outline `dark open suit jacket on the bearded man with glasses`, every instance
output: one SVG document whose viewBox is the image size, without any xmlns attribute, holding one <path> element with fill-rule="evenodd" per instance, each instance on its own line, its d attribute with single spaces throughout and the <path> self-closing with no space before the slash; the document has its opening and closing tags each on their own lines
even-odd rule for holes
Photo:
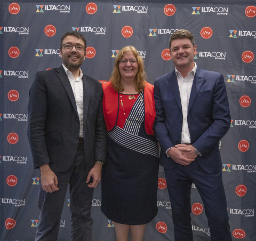
<svg viewBox="0 0 256 241">
<path fill-rule="evenodd" d="M 107 132 L 101 84 L 83 75 L 83 88 L 83 138 L 88 173 L 95 160 L 105 162 Z M 79 128 L 74 93 L 63 67 L 38 71 L 29 91 L 28 105 L 28 140 L 34 168 L 49 163 L 52 171 L 66 172 L 75 159 Z"/>
</svg>

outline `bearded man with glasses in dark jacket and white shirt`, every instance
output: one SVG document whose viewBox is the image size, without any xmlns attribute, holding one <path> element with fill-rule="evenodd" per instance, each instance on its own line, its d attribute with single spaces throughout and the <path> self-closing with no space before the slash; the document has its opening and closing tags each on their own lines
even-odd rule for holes
<svg viewBox="0 0 256 241">
<path fill-rule="evenodd" d="M 86 41 L 63 34 L 60 68 L 39 71 L 29 92 L 28 139 L 34 168 L 40 168 L 35 240 L 57 240 L 70 184 L 71 240 L 91 240 L 93 188 L 106 156 L 102 87 L 83 75 Z"/>
</svg>

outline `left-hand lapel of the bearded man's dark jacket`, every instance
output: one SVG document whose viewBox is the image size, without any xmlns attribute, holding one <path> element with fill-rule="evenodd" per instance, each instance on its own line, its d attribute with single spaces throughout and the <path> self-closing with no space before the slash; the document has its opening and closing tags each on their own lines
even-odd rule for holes
<svg viewBox="0 0 256 241">
<path fill-rule="evenodd" d="M 74 93 L 73 93 L 72 87 L 70 85 L 68 76 L 65 73 L 65 70 L 62 66 L 60 68 L 58 68 L 56 70 L 56 72 L 57 72 L 57 76 L 60 79 L 62 85 L 64 86 L 64 88 L 65 88 L 65 90 L 68 94 L 68 98 L 69 98 L 69 100 L 70 100 L 70 102 L 71 102 L 71 104 L 72 104 L 73 108 L 75 109 L 76 114 L 78 116 L 77 107 L 76 107 L 76 100 L 75 100 Z"/>
</svg>

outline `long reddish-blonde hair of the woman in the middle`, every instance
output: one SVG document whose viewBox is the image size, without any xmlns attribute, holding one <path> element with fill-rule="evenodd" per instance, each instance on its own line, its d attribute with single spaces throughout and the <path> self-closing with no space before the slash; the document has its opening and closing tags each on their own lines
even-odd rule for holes
<svg viewBox="0 0 256 241">
<path fill-rule="evenodd" d="M 121 83 L 121 75 L 120 75 L 120 71 L 119 71 L 119 60 L 123 59 L 124 54 L 126 52 L 132 52 L 134 54 L 135 58 L 138 60 L 138 72 L 137 72 L 137 75 L 135 76 L 135 82 L 136 82 L 135 90 L 137 92 L 141 92 L 145 88 L 147 76 L 145 73 L 144 61 L 140 57 L 140 54 L 137 51 L 137 49 L 135 49 L 135 47 L 132 45 L 123 47 L 123 49 L 118 52 L 118 54 L 116 56 L 115 63 L 114 63 L 114 69 L 113 69 L 113 72 L 110 77 L 111 85 L 112 85 L 113 89 L 117 92 L 124 91 L 123 85 Z"/>
</svg>

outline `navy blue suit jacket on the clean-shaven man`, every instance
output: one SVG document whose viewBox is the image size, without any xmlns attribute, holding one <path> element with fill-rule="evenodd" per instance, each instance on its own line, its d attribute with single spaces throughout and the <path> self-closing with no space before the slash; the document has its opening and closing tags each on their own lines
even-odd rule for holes
<svg viewBox="0 0 256 241">
<path fill-rule="evenodd" d="M 156 119 L 154 130 L 161 146 L 160 164 L 167 169 L 177 165 L 166 150 L 181 143 L 182 108 L 175 70 L 155 80 Z M 219 140 L 230 127 L 226 86 L 220 73 L 197 67 L 189 105 L 188 127 L 191 144 L 201 152 L 197 163 L 204 171 L 221 170 Z"/>
</svg>

